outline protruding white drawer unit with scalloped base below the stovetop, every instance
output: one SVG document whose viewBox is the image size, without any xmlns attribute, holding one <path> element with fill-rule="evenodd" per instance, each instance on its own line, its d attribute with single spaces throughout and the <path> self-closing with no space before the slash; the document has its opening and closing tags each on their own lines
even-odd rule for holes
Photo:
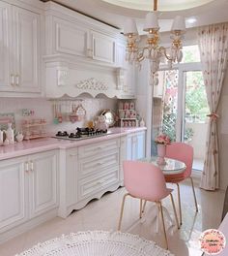
<svg viewBox="0 0 228 256">
<path fill-rule="evenodd" d="M 120 186 L 120 139 L 82 145 L 60 152 L 60 208 L 66 218 L 73 209 Z"/>
</svg>

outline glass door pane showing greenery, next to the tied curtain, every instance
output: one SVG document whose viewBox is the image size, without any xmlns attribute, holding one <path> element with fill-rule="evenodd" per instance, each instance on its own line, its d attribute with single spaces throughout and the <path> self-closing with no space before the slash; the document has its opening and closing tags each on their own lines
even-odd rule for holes
<svg viewBox="0 0 228 256">
<path fill-rule="evenodd" d="M 209 106 L 201 71 L 185 71 L 182 141 L 194 148 L 193 169 L 203 170 Z"/>
</svg>

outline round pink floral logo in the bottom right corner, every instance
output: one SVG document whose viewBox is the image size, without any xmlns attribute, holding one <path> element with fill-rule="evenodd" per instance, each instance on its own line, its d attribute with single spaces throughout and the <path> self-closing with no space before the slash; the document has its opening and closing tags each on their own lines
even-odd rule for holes
<svg viewBox="0 0 228 256">
<path fill-rule="evenodd" d="M 219 230 L 209 229 L 200 236 L 200 245 L 203 252 L 216 255 L 224 249 L 226 238 Z"/>
</svg>

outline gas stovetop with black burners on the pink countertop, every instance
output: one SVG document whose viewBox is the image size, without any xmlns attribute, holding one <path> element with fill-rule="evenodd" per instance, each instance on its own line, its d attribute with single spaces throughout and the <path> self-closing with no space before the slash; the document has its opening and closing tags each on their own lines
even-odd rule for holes
<svg viewBox="0 0 228 256">
<path fill-rule="evenodd" d="M 83 139 L 89 139 L 89 138 L 96 138 L 100 136 L 104 136 L 110 134 L 109 131 L 99 131 L 95 130 L 94 128 L 76 128 L 76 132 L 68 133 L 67 131 L 58 131 L 58 133 L 53 136 L 52 138 L 56 139 L 63 139 L 63 140 L 70 140 L 70 141 L 76 141 L 76 140 L 83 140 Z"/>
</svg>

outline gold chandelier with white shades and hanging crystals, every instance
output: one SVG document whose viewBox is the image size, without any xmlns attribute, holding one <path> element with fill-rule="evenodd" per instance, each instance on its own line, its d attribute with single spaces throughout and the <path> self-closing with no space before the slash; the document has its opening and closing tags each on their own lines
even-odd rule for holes
<svg viewBox="0 0 228 256">
<path fill-rule="evenodd" d="M 158 80 L 155 76 L 162 57 L 167 59 L 169 69 L 175 62 L 181 62 L 183 58 L 182 40 L 185 34 L 185 18 L 184 16 L 176 16 L 171 28 L 172 44 L 170 48 L 159 46 L 159 26 L 158 26 L 157 0 L 154 0 L 154 11 L 146 16 L 143 30 L 148 32 L 147 43 L 144 48 L 138 46 L 138 31 L 135 20 L 128 18 L 124 35 L 127 36 L 126 60 L 130 64 L 141 67 L 140 62 L 148 59 L 150 62 L 151 83 L 157 84 Z"/>
</svg>

